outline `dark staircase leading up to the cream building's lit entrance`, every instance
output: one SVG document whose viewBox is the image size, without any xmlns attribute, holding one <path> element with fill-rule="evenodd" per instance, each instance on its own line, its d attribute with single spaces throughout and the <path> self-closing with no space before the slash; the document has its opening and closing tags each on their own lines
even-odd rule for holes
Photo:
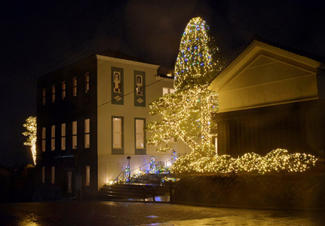
<svg viewBox="0 0 325 226">
<path fill-rule="evenodd" d="M 98 198 L 105 201 L 169 201 L 171 188 L 161 183 L 168 174 L 144 174 L 125 184 L 103 186 Z"/>
</svg>

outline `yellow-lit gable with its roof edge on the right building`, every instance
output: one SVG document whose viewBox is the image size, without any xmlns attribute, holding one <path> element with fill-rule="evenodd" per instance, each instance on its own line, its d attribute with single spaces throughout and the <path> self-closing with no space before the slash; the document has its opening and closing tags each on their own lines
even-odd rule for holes
<svg viewBox="0 0 325 226">
<path fill-rule="evenodd" d="M 253 40 L 209 85 L 219 112 L 325 97 L 324 64 Z"/>
</svg>

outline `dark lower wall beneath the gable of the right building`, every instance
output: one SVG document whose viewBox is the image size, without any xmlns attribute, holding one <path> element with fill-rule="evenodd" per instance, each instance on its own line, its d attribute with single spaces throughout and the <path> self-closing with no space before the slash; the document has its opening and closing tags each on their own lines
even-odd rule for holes
<svg viewBox="0 0 325 226">
<path fill-rule="evenodd" d="M 325 101 L 309 100 L 214 114 L 218 153 L 266 155 L 276 148 L 322 156 Z"/>
</svg>

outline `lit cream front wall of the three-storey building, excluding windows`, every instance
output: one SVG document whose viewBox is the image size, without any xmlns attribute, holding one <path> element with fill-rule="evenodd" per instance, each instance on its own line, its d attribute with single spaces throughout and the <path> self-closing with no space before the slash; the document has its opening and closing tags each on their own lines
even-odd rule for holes
<svg viewBox="0 0 325 226">
<path fill-rule="evenodd" d="M 112 67 L 123 69 L 123 104 L 114 104 L 112 101 Z M 162 95 L 162 88 L 173 88 L 171 78 L 157 78 L 157 65 L 139 63 L 110 57 L 98 57 L 98 187 L 115 179 L 128 165 L 127 157 L 130 156 L 130 169 L 145 165 L 154 156 L 156 161 L 168 161 L 171 153 L 158 153 L 153 146 L 145 145 L 145 150 L 135 150 L 135 118 L 145 119 L 149 123 L 158 116 L 149 115 L 148 105 Z M 135 96 L 135 71 L 145 74 L 145 105 L 138 106 Z M 159 80 L 157 80 L 159 79 Z M 123 117 L 123 150 L 117 153 L 112 151 L 112 117 Z M 149 134 L 145 132 L 146 138 Z M 178 153 L 185 151 L 183 143 L 174 143 Z M 145 167 L 142 167 L 142 170 Z"/>
</svg>

